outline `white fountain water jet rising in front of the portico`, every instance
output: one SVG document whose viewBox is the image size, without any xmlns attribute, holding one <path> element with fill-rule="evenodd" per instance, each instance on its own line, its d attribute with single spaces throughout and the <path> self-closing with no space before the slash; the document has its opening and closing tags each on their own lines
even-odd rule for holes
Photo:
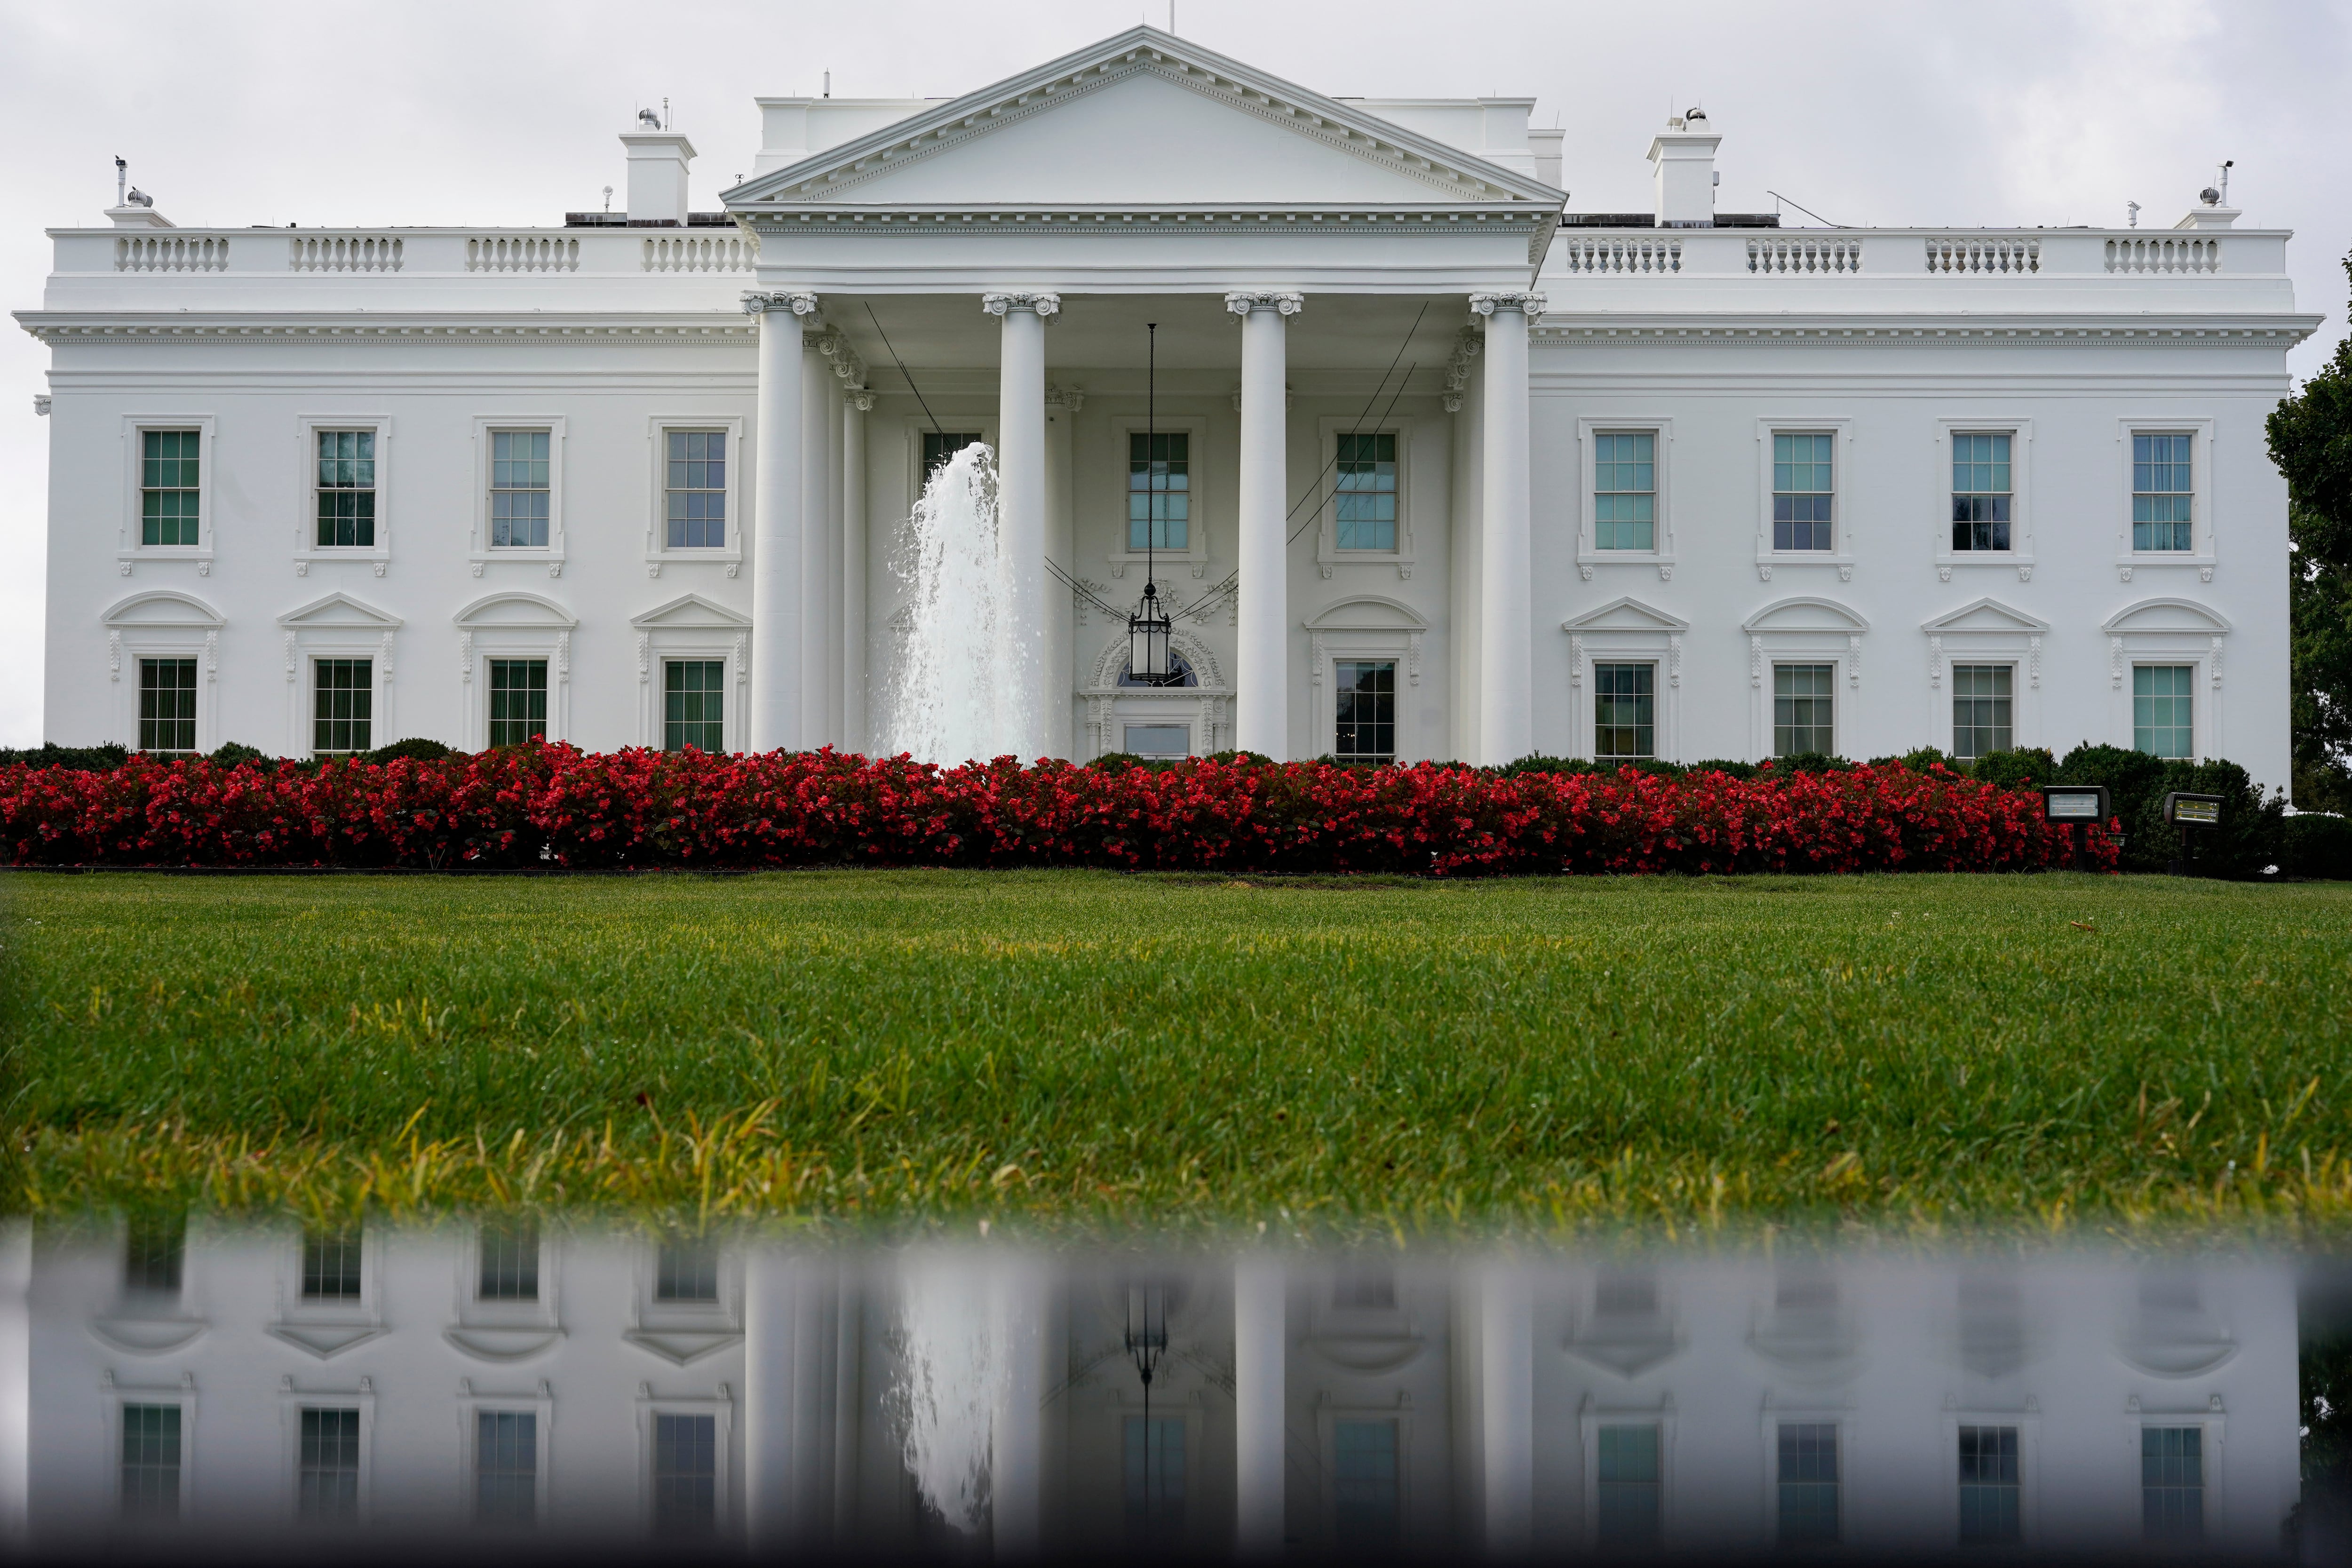
<svg viewBox="0 0 2352 1568">
<path fill-rule="evenodd" d="M 884 752 L 915 762 L 1037 755 L 1035 696 L 1016 644 L 1014 562 L 997 529 L 997 458 L 974 442 L 931 470 L 894 564 L 908 585 L 908 632 L 887 698 Z"/>
</svg>

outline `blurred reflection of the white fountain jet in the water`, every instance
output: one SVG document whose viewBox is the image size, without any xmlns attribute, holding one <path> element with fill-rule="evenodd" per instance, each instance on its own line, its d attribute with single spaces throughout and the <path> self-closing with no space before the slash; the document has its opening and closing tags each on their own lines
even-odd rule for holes
<svg viewBox="0 0 2352 1568">
<path fill-rule="evenodd" d="M 903 1432 L 906 1469 L 941 1519 L 962 1535 L 978 1535 L 990 1514 L 1004 1356 L 969 1262 L 908 1262 L 898 1284 L 898 1349 L 889 1406 Z"/>
</svg>

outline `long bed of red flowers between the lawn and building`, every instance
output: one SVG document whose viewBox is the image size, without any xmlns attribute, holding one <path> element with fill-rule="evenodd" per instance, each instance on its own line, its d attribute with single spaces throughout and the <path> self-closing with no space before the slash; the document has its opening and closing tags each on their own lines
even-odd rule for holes
<svg viewBox="0 0 2352 1568">
<path fill-rule="evenodd" d="M 2072 865 L 2042 797 L 1943 766 L 1494 771 L 1249 755 L 941 769 L 524 745 L 390 762 L 0 766 L 14 865 L 1105 865 L 1216 872 L 1997 872 Z M 2089 863 L 2112 870 L 2107 825 Z"/>
</svg>

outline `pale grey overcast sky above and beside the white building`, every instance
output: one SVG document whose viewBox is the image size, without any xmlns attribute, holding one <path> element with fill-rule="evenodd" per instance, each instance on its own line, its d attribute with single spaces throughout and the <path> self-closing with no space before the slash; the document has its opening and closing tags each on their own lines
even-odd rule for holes
<svg viewBox="0 0 2352 1568">
<path fill-rule="evenodd" d="M 760 146 L 755 94 L 946 96 L 1169 0 L 0 0 L 0 301 L 40 303 L 45 226 L 101 223 L 113 158 L 174 223 L 560 223 L 623 186 L 670 101 L 694 205 Z M 2352 0 L 1176 0 L 1176 31 L 1327 94 L 1534 94 L 1569 207 L 1649 207 L 1670 108 L 1724 134 L 1724 212 L 1766 188 L 1837 223 L 2169 226 L 2234 158 L 2246 226 L 2296 230 L 2310 374 L 2343 334 Z M 42 738 L 47 353 L 0 329 L 0 745 Z"/>
</svg>

